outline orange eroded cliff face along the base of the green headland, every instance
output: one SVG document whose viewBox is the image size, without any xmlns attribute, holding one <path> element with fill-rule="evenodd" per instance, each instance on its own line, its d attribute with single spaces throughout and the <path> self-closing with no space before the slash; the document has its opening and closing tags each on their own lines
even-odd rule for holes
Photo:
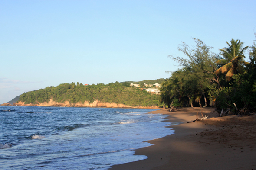
<svg viewBox="0 0 256 170">
<path fill-rule="evenodd" d="M 13 106 L 56 106 L 56 107 L 106 107 L 106 108 L 139 108 L 139 109 L 160 109 L 158 106 L 149 106 L 149 107 L 132 107 L 127 106 L 123 104 L 116 104 L 116 103 L 103 103 L 98 100 L 95 100 L 93 103 L 89 103 L 89 101 L 85 101 L 84 103 L 78 102 L 78 103 L 69 103 L 68 101 L 65 101 L 64 103 L 59 103 L 53 101 L 53 99 L 50 99 L 50 101 L 44 102 L 44 103 L 38 103 L 38 104 L 25 104 L 24 102 L 16 102 L 13 103 Z"/>
</svg>

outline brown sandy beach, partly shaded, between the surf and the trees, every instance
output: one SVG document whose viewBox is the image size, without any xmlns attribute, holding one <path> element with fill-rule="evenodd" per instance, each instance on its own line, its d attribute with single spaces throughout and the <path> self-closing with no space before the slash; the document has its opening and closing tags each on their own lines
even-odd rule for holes
<svg viewBox="0 0 256 170">
<path fill-rule="evenodd" d="M 197 112 L 209 116 L 196 119 Z M 175 134 L 146 141 L 152 145 L 135 150 L 145 160 L 115 165 L 110 170 L 256 170 L 256 116 L 218 117 L 214 108 L 168 109 L 152 113 L 168 114 Z"/>
</svg>

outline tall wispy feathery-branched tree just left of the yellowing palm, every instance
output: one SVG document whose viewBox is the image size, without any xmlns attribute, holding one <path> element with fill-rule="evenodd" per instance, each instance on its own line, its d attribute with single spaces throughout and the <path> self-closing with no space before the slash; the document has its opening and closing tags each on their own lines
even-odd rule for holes
<svg viewBox="0 0 256 170">
<path fill-rule="evenodd" d="M 208 86 L 221 88 L 221 85 L 218 75 L 215 74 L 217 55 L 210 52 L 212 47 L 205 45 L 203 41 L 197 38 L 193 39 L 196 43 L 195 47 L 191 47 L 184 42 L 178 46 L 178 50 L 182 51 L 188 58 L 168 56 L 183 68 L 172 73 L 170 77 L 171 87 L 167 90 L 171 100 L 176 97 L 184 105 L 190 104 L 192 107 L 193 102 L 196 101 L 201 107 L 202 96 L 205 99 L 205 106 L 207 106 L 205 92 L 208 90 Z"/>
</svg>

